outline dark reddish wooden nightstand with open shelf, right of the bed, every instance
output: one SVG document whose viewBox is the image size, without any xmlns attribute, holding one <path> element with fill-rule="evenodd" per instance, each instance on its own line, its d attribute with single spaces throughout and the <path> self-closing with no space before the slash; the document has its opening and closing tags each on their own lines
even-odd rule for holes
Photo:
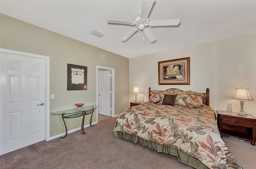
<svg viewBox="0 0 256 169">
<path fill-rule="evenodd" d="M 218 114 L 218 128 L 220 136 L 230 136 L 251 141 L 251 145 L 256 142 L 256 118 L 247 114 L 246 117 L 232 113 L 227 114 L 224 111 L 216 111 Z"/>
</svg>

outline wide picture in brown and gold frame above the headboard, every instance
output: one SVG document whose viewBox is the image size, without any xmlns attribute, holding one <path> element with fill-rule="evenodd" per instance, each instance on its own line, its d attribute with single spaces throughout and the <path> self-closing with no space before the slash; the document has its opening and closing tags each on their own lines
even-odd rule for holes
<svg viewBox="0 0 256 169">
<path fill-rule="evenodd" d="M 190 57 L 158 62 L 158 85 L 190 85 Z"/>
</svg>

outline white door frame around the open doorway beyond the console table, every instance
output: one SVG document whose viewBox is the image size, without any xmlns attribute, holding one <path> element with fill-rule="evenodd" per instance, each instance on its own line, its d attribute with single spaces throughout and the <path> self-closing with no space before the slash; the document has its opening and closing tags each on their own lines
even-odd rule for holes
<svg viewBox="0 0 256 169">
<path fill-rule="evenodd" d="M 111 117 L 115 117 L 115 69 L 110 68 L 110 67 L 103 67 L 103 66 L 98 66 L 96 65 L 96 104 L 98 105 L 98 87 L 99 87 L 99 82 L 98 82 L 98 73 L 99 69 L 106 69 L 106 70 L 111 70 Z M 98 123 L 98 112 L 96 113 L 96 122 Z"/>
</svg>

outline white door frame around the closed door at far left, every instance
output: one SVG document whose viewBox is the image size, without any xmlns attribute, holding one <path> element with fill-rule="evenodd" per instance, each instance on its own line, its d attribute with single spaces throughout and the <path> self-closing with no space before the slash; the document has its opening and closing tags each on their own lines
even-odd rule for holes
<svg viewBox="0 0 256 169">
<path fill-rule="evenodd" d="M 50 140 L 50 57 L 0 48 L 1 52 L 45 59 L 45 140 Z M 1 63 L 0 63 L 1 66 Z M 1 94 L 1 93 L 0 93 Z M 1 106 L 1 105 L 0 105 Z"/>
</svg>

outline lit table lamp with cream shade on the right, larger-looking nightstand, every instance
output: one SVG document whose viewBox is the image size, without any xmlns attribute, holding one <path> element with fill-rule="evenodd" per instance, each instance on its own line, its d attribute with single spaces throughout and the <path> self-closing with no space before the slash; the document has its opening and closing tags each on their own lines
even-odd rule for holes
<svg viewBox="0 0 256 169">
<path fill-rule="evenodd" d="M 246 116 L 246 113 L 244 113 L 244 100 L 253 100 L 252 97 L 250 96 L 249 89 L 248 88 L 236 88 L 236 91 L 234 95 L 232 96 L 234 99 L 241 99 L 240 105 L 241 105 L 241 110 L 238 112 L 237 115 L 240 116 Z"/>
</svg>

